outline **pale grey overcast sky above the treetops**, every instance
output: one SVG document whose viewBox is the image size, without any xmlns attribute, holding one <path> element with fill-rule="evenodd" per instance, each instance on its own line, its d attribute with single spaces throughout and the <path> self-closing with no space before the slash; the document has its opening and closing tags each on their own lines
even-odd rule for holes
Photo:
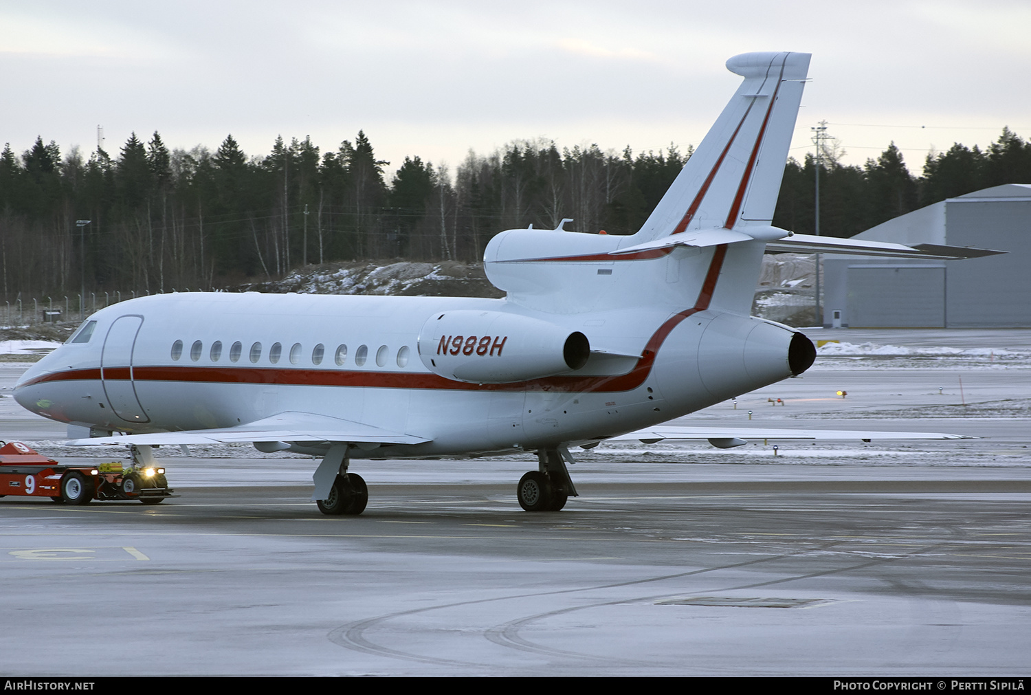
<svg viewBox="0 0 1031 695">
<path fill-rule="evenodd" d="M 452 169 L 469 148 L 697 144 L 749 51 L 813 54 L 792 154 L 821 120 L 845 161 L 891 140 L 1031 137 L 1027 0 L 336 2 L 0 0 L 0 142 L 36 135 L 112 156 L 135 131 L 248 155 L 276 135 L 325 152 L 359 129 L 398 166 Z"/>
</svg>

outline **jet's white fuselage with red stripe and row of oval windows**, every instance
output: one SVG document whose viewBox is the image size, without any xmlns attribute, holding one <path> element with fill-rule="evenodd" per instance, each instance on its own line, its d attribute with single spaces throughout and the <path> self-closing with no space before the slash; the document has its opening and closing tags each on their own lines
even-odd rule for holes
<svg viewBox="0 0 1031 695">
<path fill-rule="evenodd" d="M 428 320 L 454 310 L 536 319 L 583 332 L 612 354 L 596 352 L 580 369 L 512 383 L 445 378 L 421 358 L 455 351 L 488 363 L 521 337 L 495 331 L 450 334 L 443 345 L 436 336 L 420 340 Z M 791 374 L 789 330 L 688 312 L 638 306 L 561 316 L 474 298 L 156 295 L 91 317 L 90 339 L 37 363 L 15 397 L 39 415 L 95 432 L 232 427 L 292 411 L 430 439 L 365 454 L 378 458 L 596 441 Z M 755 352 L 757 332 L 773 359 L 750 367 L 747 338 Z"/>
</svg>

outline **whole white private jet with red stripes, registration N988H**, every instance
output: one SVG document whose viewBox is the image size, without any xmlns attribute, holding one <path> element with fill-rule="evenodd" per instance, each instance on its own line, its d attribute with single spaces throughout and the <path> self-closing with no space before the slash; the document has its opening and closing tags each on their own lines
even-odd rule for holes
<svg viewBox="0 0 1031 695">
<path fill-rule="evenodd" d="M 360 514 L 362 459 L 535 452 L 527 510 L 576 491 L 569 448 L 613 437 L 952 437 L 659 423 L 805 371 L 798 331 L 750 317 L 764 252 L 976 255 L 771 226 L 809 56 L 752 53 L 743 77 L 632 236 L 509 229 L 485 253 L 504 299 L 173 293 L 90 317 L 15 387 L 75 444 L 253 442 L 321 456 L 325 514 Z M 113 435 L 113 436 L 112 436 Z M 428 463 L 427 465 L 432 465 Z"/>
</svg>

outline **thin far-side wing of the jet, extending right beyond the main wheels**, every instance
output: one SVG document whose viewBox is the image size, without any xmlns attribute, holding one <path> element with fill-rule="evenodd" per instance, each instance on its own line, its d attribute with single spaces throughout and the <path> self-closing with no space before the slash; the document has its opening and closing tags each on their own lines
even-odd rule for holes
<svg viewBox="0 0 1031 695">
<path fill-rule="evenodd" d="M 730 449 L 749 443 L 749 439 L 976 439 L 962 434 L 942 432 L 884 432 L 870 430 L 792 430 L 752 427 L 650 427 L 629 432 L 605 441 L 637 439 L 644 443 L 655 443 L 664 439 L 707 439 L 720 449 Z"/>
</svg>

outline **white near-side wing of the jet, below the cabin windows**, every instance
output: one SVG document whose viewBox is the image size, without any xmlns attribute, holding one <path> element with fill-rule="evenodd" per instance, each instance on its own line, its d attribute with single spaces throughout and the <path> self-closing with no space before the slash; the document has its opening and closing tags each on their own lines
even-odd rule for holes
<svg viewBox="0 0 1031 695">
<path fill-rule="evenodd" d="M 109 437 L 90 437 L 68 441 L 73 446 L 91 444 L 211 444 L 255 441 L 338 441 L 380 444 L 418 444 L 429 441 L 403 432 L 392 432 L 381 427 L 332 418 L 313 412 L 280 412 L 235 427 L 217 427 L 204 430 L 156 432 L 153 434 L 126 434 Z"/>
</svg>

